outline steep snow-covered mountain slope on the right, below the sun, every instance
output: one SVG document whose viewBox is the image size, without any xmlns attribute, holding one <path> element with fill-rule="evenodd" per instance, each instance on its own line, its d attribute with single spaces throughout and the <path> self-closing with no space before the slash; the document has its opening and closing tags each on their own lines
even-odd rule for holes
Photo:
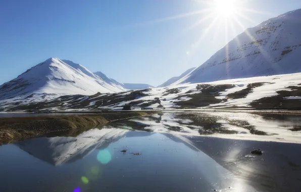
<svg viewBox="0 0 301 192">
<path fill-rule="evenodd" d="M 301 72 L 301 9 L 248 28 L 174 84 Z"/>
</svg>

